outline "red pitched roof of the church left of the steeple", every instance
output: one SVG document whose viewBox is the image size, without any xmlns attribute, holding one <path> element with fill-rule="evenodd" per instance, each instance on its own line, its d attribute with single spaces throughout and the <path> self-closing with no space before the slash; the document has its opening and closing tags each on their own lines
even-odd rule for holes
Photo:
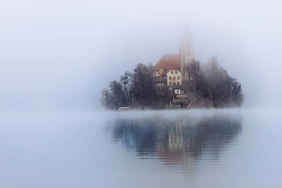
<svg viewBox="0 0 282 188">
<path fill-rule="evenodd" d="M 154 65 L 154 70 L 159 70 L 159 68 L 164 68 L 164 70 L 177 70 L 180 66 L 180 56 L 178 54 L 164 54 L 158 63 Z"/>
</svg>

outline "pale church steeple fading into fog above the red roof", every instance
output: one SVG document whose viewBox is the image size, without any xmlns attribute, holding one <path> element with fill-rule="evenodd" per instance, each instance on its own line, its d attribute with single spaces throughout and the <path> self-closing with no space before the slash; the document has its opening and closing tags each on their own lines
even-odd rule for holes
<svg viewBox="0 0 282 188">
<path fill-rule="evenodd" d="M 193 53 L 193 46 L 192 41 L 188 35 L 183 35 L 183 39 L 180 46 L 180 61 L 181 61 L 181 67 L 180 70 L 184 74 L 184 79 L 187 79 L 187 74 L 185 73 L 185 66 L 188 65 L 188 63 L 192 62 L 192 59 L 194 58 Z"/>
</svg>

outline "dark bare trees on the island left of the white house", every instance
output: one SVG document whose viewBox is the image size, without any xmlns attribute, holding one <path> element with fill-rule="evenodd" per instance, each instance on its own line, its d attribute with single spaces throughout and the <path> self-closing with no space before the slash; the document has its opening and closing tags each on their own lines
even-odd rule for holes
<svg viewBox="0 0 282 188">
<path fill-rule="evenodd" d="M 111 109 L 121 106 L 165 108 L 170 101 L 171 92 L 168 89 L 156 90 L 153 73 L 152 64 L 137 64 L 132 72 L 126 71 L 119 80 L 111 81 L 108 88 L 102 89 L 102 105 Z"/>
</svg>

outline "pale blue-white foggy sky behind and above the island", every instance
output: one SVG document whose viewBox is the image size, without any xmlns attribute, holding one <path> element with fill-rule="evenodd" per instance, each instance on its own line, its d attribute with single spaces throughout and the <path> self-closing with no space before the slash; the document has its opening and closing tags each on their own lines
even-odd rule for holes
<svg viewBox="0 0 282 188">
<path fill-rule="evenodd" d="M 177 54 L 190 29 L 195 58 L 243 84 L 246 107 L 278 106 L 279 1 L 5 1 L 0 6 L 0 110 L 90 110 L 136 63 Z"/>
</svg>

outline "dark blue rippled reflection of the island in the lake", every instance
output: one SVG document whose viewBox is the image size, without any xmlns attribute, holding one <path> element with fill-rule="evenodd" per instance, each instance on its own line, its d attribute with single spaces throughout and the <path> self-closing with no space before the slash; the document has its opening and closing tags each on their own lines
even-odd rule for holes
<svg viewBox="0 0 282 188">
<path fill-rule="evenodd" d="M 242 132 L 238 115 L 159 115 L 114 120 L 114 142 L 140 158 L 157 158 L 168 166 L 193 171 L 203 158 L 217 163 L 221 151 L 228 150 Z"/>
</svg>

